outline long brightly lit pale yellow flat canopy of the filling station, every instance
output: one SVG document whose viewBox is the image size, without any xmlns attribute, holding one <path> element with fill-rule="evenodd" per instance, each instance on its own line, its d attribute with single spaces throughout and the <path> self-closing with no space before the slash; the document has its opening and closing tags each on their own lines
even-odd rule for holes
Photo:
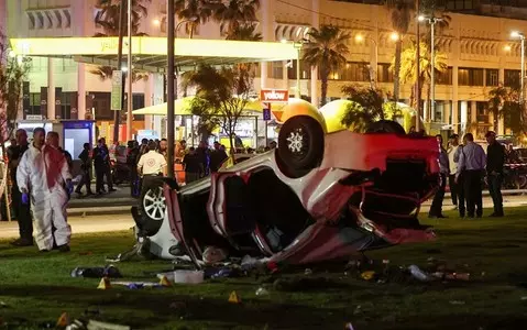
<svg viewBox="0 0 527 330">
<path fill-rule="evenodd" d="M 118 37 L 36 37 L 11 38 L 17 55 L 67 57 L 77 62 L 118 67 Z M 226 40 L 175 40 L 175 62 L 180 70 L 196 65 L 232 65 L 250 62 L 288 61 L 297 57 L 293 43 L 244 42 Z M 123 42 L 128 54 L 128 41 Z M 164 73 L 167 61 L 166 37 L 132 37 L 133 66 Z"/>
</svg>

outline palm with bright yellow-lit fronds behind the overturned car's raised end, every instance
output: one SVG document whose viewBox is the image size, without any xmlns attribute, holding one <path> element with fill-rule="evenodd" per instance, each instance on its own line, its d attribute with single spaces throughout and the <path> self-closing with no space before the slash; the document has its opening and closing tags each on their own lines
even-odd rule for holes
<svg viewBox="0 0 527 330">
<path fill-rule="evenodd" d="M 399 79 L 400 82 L 407 84 L 410 82 L 413 85 L 417 84 L 417 79 L 420 80 L 421 84 L 427 85 L 428 89 L 428 98 L 427 100 L 430 99 L 430 82 L 431 82 L 431 61 L 430 61 L 430 48 L 426 43 L 420 43 L 419 45 L 419 52 L 420 52 L 420 58 L 419 58 L 419 77 L 416 77 L 416 53 L 417 53 L 417 46 L 415 43 L 413 43 L 409 47 L 407 47 L 400 56 L 403 65 L 400 66 L 400 75 Z M 396 65 L 396 58 L 392 61 L 392 68 L 394 68 Z M 436 76 L 437 74 L 443 73 L 447 70 L 448 65 L 447 65 L 447 55 L 440 52 L 435 52 L 435 70 L 436 70 Z M 417 109 L 417 105 L 415 105 L 416 100 L 416 95 L 414 95 L 414 89 L 413 89 L 413 95 L 410 97 L 410 103 L 411 107 Z"/>
</svg>

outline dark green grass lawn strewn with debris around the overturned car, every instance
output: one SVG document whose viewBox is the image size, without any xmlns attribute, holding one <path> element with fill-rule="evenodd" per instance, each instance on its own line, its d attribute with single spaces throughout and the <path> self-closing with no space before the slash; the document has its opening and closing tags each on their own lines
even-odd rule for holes
<svg viewBox="0 0 527 330">
<path fill-rule="evenodd" d="M 343 329 L 345 322 L 355 330 L 526 329 L 527 300 L 521 297 L 527 297 L 527 208 L 506 211 L 504 219 L 428 221 L 437 229 L 436 242 L 367 253 L 396 265 L 444 260 L 469 270 L 470 282 L 378 284 L 344 274 L 343 265 L 329 272 L 319 266 L 309 276 L 304 270 L 284 276 L 323 277 L 325 287 L 284 292 L 268 285 L 266 296 L 255 295 L 265 285 L 265 278 L 255 277 L 142 290 L 98 290 L 99 279 L 70 277 L 76 266 L 105 265 L 105 256 L 129 249 L 131 232 L 75 235 L 69 254 L 40 254 L 35 248 L 12 249 L 0 242 L 0 301 L 6 304 L 0 316 L 23 324 L 20 329 L 56 322 L 63 311 L 79 318 L 87 309 L 100 311 L 89 318 L 132 329 Z M 117 266 L 125 279 L 142 280 L 155 280 L 149 272 L 172 267 L 162 261 Z M 232 290 L 242 305 L 227 301 Z"/>
</svg>

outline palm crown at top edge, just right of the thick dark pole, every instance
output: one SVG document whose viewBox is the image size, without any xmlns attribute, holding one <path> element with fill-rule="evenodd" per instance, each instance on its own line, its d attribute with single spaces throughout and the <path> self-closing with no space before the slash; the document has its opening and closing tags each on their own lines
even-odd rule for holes
<svg viewBox="0 0 527 330">
<path fill-rule="evenodd" d="M 177 18 L 194 22 L 185 25 L 190 38 L 194 36 L 198 24 L 205 24 L 212 18 L 213 9 L 213 2 L 207 0 L 175 0 Z"/>
</svg>

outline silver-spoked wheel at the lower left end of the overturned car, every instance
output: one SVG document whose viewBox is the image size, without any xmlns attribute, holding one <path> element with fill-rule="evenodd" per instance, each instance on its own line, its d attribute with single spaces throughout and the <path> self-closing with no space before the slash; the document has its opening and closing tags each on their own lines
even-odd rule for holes
<svg viewBox="0 0 527 330">
<path fill-rule="evenodd" d="M 163 194 L 162 179 L 143 178 L 141 194 L 141 213 L 150 221 L 163 221 L 165 218 L 166 202 Z"/>
</svg>

